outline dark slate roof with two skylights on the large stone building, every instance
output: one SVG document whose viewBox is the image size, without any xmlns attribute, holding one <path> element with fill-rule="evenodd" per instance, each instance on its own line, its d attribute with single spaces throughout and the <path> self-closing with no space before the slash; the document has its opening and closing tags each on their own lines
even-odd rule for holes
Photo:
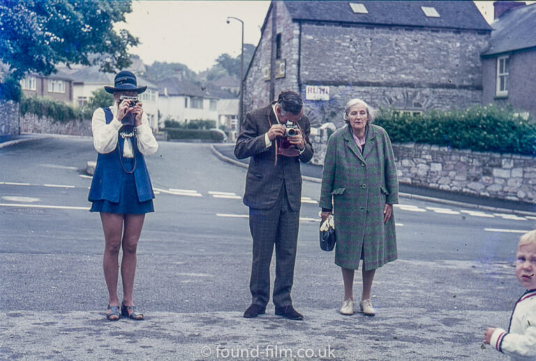
<svg viewBox="0 0 536 361">
<path fill-rule="evenodd" d="M 472 1 L 284 1 L 292 20 L 341 24 L 398 25 L 491 31 Z M 350 3 L 362 3 L 367 14 L 354 13 Z M 427 17 L 431 6 L 440 17 Z M 265 20 L 266 25 L 266 20 Z"/>
</svg>

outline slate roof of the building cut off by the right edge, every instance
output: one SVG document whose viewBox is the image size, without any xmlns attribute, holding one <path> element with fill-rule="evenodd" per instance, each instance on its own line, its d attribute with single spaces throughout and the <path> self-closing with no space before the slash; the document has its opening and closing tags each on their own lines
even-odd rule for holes
<svg viewBox="0 0 536 361">
<path fill-rule="evenodd" d="M 536 47 L 536 3 L 507 11 L 491 27 L 489 49 L 482 57 Z"/>
</svg>

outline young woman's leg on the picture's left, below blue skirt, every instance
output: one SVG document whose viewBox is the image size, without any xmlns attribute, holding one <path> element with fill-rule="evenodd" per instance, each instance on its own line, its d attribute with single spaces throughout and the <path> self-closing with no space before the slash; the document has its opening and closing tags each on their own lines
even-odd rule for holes
<svg viewBox="0 0 536 361">
<path fill-rule="evenodd" d="M 121 234 L 123 233 L 123 215 L 101 212 L 101 221 L 104 230 L 104 256 L 103 270 L 106 286 L 108 288 L 108 303 L 118 306 L 117 277 L 119 274 L 119 249 L 121 248 Z"/>
</svg>

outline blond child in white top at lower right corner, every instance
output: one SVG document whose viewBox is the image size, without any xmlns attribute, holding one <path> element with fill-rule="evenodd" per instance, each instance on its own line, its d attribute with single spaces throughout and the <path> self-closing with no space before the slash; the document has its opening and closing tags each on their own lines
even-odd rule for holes
<svg viewBox="0 0 536 361">
<path fill-rule="evenodd" d="M 484 344 L 490 344 L 512 360 L 536 360 L 536 230 L 519 239 L 516 278 L 526 292 L 516 302 L 508 331 L 488 327 Z"/>
</svg>

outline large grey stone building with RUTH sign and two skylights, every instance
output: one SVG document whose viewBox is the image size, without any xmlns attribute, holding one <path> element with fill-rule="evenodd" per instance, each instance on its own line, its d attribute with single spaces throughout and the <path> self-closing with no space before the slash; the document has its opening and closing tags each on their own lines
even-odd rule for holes
<svg viewBox="0 0 536 361">
<path fill-rule="evenodd" d="M 490 33 L 472 1 L 272 1 L 244 111 L 285 89 L 302 94 L 316 126 L 341 126 L 355 97 L 401 112 L 479 104 Z"/>
</svg>

